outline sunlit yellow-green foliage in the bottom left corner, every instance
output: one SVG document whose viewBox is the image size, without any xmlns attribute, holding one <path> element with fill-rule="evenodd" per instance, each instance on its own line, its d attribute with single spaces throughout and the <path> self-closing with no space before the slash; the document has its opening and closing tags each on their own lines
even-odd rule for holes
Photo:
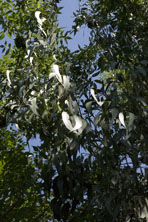
<svg viewBox="0 0 148 222">
<path fill-rule="evenodd" d="M 3 129 L 0 133 L 0 220 L 49 219 L 49 203 L 41 195 L 43 188 L 32 155 L 25 151 L 25 144 L 15 131 Z"/>
</svg>

